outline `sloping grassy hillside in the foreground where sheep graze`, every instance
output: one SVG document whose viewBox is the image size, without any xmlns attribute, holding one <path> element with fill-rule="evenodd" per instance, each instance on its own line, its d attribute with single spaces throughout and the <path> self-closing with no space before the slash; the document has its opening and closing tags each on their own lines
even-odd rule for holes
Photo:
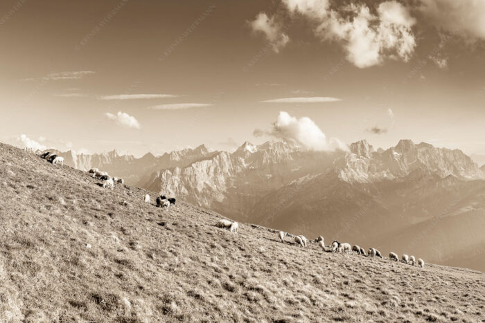
<svg viewBox="0 0 485 323">
<path fill-rule="evenodd" d="M 485 319 L 483 273 L 231 234 L 219 214 L 99 183 L 0 144 L 0 322 Z"/>
</svg>

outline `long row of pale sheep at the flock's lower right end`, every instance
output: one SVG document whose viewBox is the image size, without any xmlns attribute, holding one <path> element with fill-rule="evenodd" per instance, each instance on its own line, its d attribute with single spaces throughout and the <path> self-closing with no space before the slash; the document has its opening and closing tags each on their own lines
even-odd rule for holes
<svg viewBox="0 0 485 323">
<path fill-rule="evenodd" d="M 289 237 L 294 237 L 294 242 L 298 243 L 301 247 L 305 248 L 308 240 L 306 237 L 303 237 L 302 235 L 299 236 L 293 236 L 292 234 L 285 233 L 283 231 L 278 232 L 278 237 L 281 242 L 285 242 L 285 236 Z M 319 236 L 316 240 L 312 241 L 318 243 L 318 245 L 322 248 L 322 250 L 327 251 L 327 247 L 325 246 L 324 243 L 324 237 Z M 339 241 L 333 241 L 332 245 L 329 246 L 332 252 L 342 252 L 342 253 L 356 253 L 358 255 L 364 255 L 366 257 L 379 257 L 379 258 L 384 258 L 380 254 L 380 251 L 377 250 L 376 248 L 369 248 L 368 252 L 365 252 L 364 248 L 361 248 L 360 246 L 353 245 L 351 247 L 350 243 L 340 243 Z M 389 253 L 389 259 L 398 261 L 398 255 L 395 252 Z M 411 264 L 412 266 L 416 265 L 416 259 L 414 256 L 409 257 L 408 255 L 403 255 L 401 257 L 401 261 L 403 261 L 405 264 Z M 425 263 L 423 259 L 418 259 L 417 261 L 418 267 L 423 268 Z"/>
</svg>

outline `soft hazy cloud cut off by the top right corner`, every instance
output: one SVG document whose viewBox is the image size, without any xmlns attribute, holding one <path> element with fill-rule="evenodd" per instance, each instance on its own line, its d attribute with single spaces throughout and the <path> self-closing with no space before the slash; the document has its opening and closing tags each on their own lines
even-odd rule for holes
<svg viewBox="0 0 485 323">
<path fill-rule="evenodd" d="M 421 0 L 418 10 L 441 30 L 471 39 L 485 39 L 485 1 Z"/>
</svg>

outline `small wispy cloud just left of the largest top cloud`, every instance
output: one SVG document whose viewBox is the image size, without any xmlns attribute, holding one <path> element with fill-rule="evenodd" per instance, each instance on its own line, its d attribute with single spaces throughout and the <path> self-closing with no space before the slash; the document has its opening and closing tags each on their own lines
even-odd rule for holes
<svg viewBox="0 0 485 323">
<path fill-rule="evenodd" d="M 253 21 L 247 21 L 254 33 L 263 33 L 267 41 L 270 42 L 275 53 L 288 44 L 290 37 L 283 33 L 281 24 L 276 22 L 275 16 L 268 17 L 265 12 L 260 12 L 256 15 Z"/>
</svg>

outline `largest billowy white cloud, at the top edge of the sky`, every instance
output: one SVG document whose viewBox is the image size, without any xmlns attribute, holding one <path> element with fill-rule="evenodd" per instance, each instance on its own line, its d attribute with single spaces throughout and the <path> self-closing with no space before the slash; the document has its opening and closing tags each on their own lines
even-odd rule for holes
<svg viewBox="0 0 485 323">
<path fill-rule="evenodd" d="M 407 62 L 416 47 L 407 8 L 397 1 L 379 4 L 376 13 L 364 3 L 332 9 L 328 0 L 283 0 L 292 13 L 307 17 L 321 41 L 335 41 L 346 50 L 346 59 L 359 68 L 382 64 L 385 59 Z"/>
</svg>

